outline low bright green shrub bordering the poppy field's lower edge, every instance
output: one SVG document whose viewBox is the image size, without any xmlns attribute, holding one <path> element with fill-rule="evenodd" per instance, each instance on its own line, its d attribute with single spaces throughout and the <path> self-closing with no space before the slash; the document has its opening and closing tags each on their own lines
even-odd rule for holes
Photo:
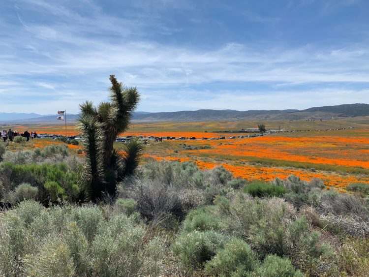
<svg viewBox="0 0 369 277">
<path fill-rule="evenodd" d="M 264 182 L 251 182 L 245 186 L 244 192 L 253 197 L 280 197 L 287 192 L 281 185 L 272 185 Z"/>
</svg>

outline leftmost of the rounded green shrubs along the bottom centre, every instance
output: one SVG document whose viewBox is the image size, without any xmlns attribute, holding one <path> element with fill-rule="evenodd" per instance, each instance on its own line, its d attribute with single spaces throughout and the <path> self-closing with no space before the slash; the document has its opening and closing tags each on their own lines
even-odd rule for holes
<svg viewBox="0 0 369 277">
<path fill-rule="evenodd" d="M 178 256 L 180 265 L 191 271 L 211 260 L 228 241 L 228 236 L 215 231 L 194 231 L 179 236 L 173 245 L 173 252 Z"/>
</svg>

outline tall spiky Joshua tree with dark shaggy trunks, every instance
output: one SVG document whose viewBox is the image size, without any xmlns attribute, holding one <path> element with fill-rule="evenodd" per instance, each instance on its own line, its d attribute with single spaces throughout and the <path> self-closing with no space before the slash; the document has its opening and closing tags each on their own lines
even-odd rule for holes
<svg viewBox="0 0 369 277">
<path fill-rule="evenodd" d="M 110 75 L 110 82 L 111 101 L 101 102 L 97 107 L 86 101 L 80 105 L 81 116 L 77 121 L 86 152 L 83 182 L 88 185 L 92 200 L 99 199 L 104 191 L 114 193 L 116 181 L 133 172 L 143 148 L 140 141 L 132 140 L 125 154 L 113 150 L 117 135 L 130 123 L 140 95 L 135 87 L 125 87 L 114 75 Z"/>
</svg>

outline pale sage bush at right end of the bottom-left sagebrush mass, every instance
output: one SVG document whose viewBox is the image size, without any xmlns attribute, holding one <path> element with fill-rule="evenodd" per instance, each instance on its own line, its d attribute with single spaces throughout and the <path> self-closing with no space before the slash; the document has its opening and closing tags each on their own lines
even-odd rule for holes
<svg viewBox="0 0 369 277">
<path fill-rule="evenodd" d="M 92 269 L 96 276 L 156 276 L 164 246 L 157 238 L 144 243 L 145 230 L 135 219 L 112 217 L 92 242 Z"/>
</svg>

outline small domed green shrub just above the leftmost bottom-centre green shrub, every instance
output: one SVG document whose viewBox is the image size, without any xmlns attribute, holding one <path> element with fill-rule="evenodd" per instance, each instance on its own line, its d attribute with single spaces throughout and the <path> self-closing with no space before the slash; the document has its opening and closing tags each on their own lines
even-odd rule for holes
<svg viewBox="0 0 369 277">
<path fill-rule="evenodd" d="M 210 213 L 211 209 L 207 206 L 190 211 L 182 223 L 184 232 L 218 230 L 219 218 Z"/>
</svg>

